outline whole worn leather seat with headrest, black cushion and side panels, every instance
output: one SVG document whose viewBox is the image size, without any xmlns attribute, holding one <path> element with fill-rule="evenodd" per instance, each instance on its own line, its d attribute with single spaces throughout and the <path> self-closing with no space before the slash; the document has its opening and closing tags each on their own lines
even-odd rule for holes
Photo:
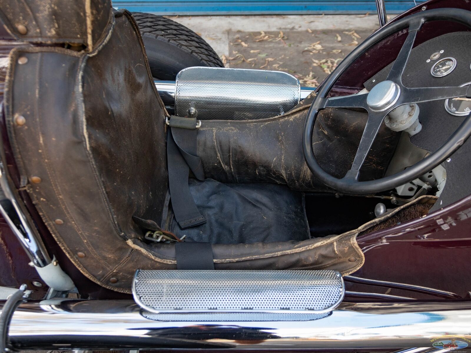
<svg viewBox="0 0 471 353">
<path fill-rule="evenodd" d="M 112 10 L 109 1 L 0 3 L 5 27 L 25 41 L 9 56 L 8 139 L 20 187 L 52 237 L 81 273 L 116 291 L 130 292 L 136 269 L 175 269 L 175 245 L 146 241 L 146 226 L 133 219 L 185 233 L 172 223 L 167 112 L 132 16 Z M 19 24 L 27 33 L 17 31 Z M 216 269 L 328 268 L 347 274 L 363 264 L 353 231 L 310 239 L 302 191 L 324 187 L 302 157 L 306 113 L 301 106 L 266 121 L 208 120 L 198 130 L 207 179 L 190 184 L 210 222 L 187 233 L 214 243 Z M 24 125 L 16 123 L 17 115 Z M 319 148 L 326 168 L 339 173 L 343 157 L 330 152 L 361 131 L 339 129 L 350 117 L 325 116 L 317 135 L 324 134 Z M 374 163 L 395 138 L 382 134 Z M 277 199 L 270 197 L 274 193 Z M 227 197 L 232 203 L 224 202 Z"/>
</svg>

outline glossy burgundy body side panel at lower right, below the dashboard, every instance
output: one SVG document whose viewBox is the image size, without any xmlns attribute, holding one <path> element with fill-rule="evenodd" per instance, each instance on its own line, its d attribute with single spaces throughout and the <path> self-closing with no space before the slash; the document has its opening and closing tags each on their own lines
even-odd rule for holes
<svg viewBox="0 0 471 353">
<path fill-rule="evenodd" d="M 468 297 L 471 291 L 471 196 L 426 217 L 358 237 L 365 265 L 352 275 L 409 283 Z M 387 289 L 349 284 L 349 290 Z M 388 294 L 410 296 L 390 290 Z M 414 294 L 416 298 L 430 298 Z"/>
</svg>

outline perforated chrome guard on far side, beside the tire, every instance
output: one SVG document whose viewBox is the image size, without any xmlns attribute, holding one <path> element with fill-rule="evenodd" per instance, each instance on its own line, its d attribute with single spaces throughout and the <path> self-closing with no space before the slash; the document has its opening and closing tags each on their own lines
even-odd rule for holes
<svg viewBox="0 0 471 353">
<path fill-rule="evenodd" d="M 300 100 L 300 84 L 281 71 L 189 67 L 176 79 L 175 112 L 197 119 L 253 120 L 291 110 Z"/>
</svg>

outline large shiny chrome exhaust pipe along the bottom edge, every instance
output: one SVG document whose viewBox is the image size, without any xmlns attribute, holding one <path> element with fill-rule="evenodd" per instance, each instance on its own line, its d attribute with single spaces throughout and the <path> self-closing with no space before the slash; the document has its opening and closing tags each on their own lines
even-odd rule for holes
<svg viewBox="0 0 471 353">
<path fill-rule="evenodd" d="M 470 302 L 342 303 L 314 321 L 164 322 L 130 300 L 24 303 L 9 328 L 16 348 L 390 349 L 471 339 Z M 419 352 L 419 351 L 415 351 Z"/>
</svg>

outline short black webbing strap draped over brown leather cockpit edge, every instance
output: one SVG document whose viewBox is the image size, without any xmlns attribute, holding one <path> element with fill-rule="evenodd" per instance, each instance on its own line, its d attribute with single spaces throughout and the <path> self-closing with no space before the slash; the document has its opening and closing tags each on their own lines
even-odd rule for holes
<svg viewBox="0 0 471 353">
<path fill-rule="evenodd" d="M 211 243 L 175 243 L 177 270 L 214 270 Z"/>
</svg>

